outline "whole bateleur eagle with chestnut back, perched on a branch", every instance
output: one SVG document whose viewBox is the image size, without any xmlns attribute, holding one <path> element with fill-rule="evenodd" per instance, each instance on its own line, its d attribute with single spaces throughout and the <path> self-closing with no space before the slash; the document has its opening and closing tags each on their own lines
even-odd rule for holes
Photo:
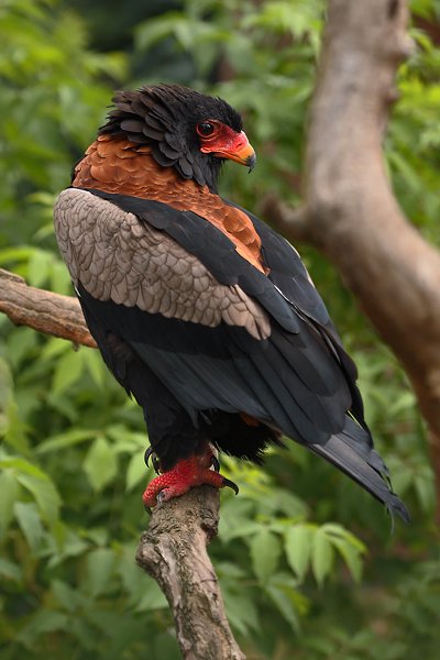
<svg viewBox="0 0 440 660">
<path fill-rule="evenodd" d="M 176 85 L 120 91 L 55 206 L 87 324 L 144 411 L 154 506 L 237 486 L 212 446 L 261 462 L 282 435 L 408 513 L 364 421 L 356 370 L 298 253 L 220 197 L 226 160 L 252 168 L 242 119 Z"/>
</svg>

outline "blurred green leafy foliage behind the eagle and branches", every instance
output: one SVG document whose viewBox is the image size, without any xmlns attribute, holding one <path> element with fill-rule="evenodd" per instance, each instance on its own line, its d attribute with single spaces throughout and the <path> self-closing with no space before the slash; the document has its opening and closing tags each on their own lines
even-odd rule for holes
<svg viewBox="0 0 440 660">
<path fill-rule="evenodd" d="M 440 3 L 411 8 L 418 50 L 399 73 L 386 158 L 406 213 L 439 244 Z M 0 267 L 72 293 L 52 205 L 116 88 L 219 94 L 258 152 L 251 177 L 224 169 L 222 191 L 253 210 L 268 191 L 297 201 L 323 21 L 320 0 L 3 0 Z M 293 443 L 263 471 L 224 460 L 241 494 L 222 494 L 210 553 L 228 615 L 258 660 L 433 659 L 440 563 L 424 425 L 338 274 L 301 253 L 414 522 L 391 534 L 377 503 Z M 0 657 L 178 658 L 164 597 L 133 560 L 151 476 L 142 414 L 98 353 L 0 318 Z"/>
</svg>

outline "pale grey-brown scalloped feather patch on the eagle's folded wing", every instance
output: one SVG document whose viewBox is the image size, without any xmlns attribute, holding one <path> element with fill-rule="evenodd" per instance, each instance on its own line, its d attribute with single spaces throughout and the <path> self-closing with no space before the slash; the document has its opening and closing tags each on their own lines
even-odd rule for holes
<svg viewBox="0 0 440 660">
<path fill-rule="evenodd" d="M 226 286 L 174 239 L 88 191 L 64 190 L 55 230 L 75 285 L 99 300 L 216 327 L 271 334 L 267 314 L 239 286 Z"/>
</svg>

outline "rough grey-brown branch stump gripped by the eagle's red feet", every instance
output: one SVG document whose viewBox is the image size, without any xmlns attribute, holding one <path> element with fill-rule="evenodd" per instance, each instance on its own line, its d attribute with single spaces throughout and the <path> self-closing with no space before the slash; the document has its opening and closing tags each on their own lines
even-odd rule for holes
<svg viewBox="0 0 440 660">
<path fill-rule="evenodd" d="M 210 486 L 155 507 L 136 561 L 166 595 L 185 660 L 243 660 L 224 614 L 207 543 L 217 535 L 219 492 Z"/>
</svg>

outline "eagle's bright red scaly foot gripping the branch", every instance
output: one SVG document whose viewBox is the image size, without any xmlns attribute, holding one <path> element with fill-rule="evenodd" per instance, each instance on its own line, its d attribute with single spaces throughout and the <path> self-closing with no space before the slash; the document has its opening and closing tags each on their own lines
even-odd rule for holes
<svg viewBox="0 0 440 660">
<path fill-rule="evenodd" d="M 188 459 L 179 461 L 172 470 L 153 479 L 143 494 L 144 505 L 154 507 L 156 504 L 167 502 L 167 499 L 183 495 L 190 488 L 202 484 L 217 488 L 230 486 L 238 493 L 239 488 L 233 482 L 210 470 L 212 458 L 212 450 L 208 446 L 206 452 L 193 454 Z"/>
</svg>

